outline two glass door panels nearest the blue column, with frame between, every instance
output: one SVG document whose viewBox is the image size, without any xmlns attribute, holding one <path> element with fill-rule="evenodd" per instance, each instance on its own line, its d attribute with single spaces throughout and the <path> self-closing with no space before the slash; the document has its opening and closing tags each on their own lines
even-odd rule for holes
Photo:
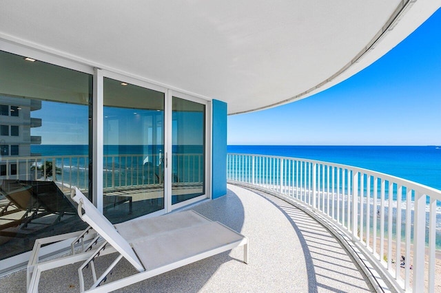
<svg viewBox="0 0 441 293">
<path fill-rule="evenodd" d="M 206 102 L 140 85 L 103 80 L 103 214 L 112 223 L 206 197 Z"/>
</svg>

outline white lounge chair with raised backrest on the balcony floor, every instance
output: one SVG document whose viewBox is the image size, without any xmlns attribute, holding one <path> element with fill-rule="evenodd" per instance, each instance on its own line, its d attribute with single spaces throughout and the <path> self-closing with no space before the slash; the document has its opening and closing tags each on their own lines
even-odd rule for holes
<svg viewBox="0 0 441 293">
<path fill-rule="evenodd" d="M 81 219 L 104 240 L 94 250 L 90 246 L 92 252 L 81 253 L 81 258 L 85 259 L 78 270 L 81 292 L 85 290 L 83 268 L 89 264 L 94 284 L 88 292 L 110 292 L 238 246 L 244 246 L 244 262 L 248 262 L 248 241 L 245 236 L 218 222 L 210 221 L 193 210 L 148 219 L 134 219 L 113 226 L 77 188 L 72 198 L 78 204 Z M 109 253 L 107 249 L 104 251 L 109 245 L 119 256 L 97 278 L 94 260 L 99 255 Z M 138 273 L 104 284 L 107 274 L 123 257 L 138 270 Z M 55 265 L 52 265 L 51 261 L 30 263 L 28 278 L 31 279 L 28 281 L 28 292 L 38 292 L 43 270 L 72 263 L 70 259 L 68 263 L 57 263 L 57 260 L 54 262 Z"/>
</svg>

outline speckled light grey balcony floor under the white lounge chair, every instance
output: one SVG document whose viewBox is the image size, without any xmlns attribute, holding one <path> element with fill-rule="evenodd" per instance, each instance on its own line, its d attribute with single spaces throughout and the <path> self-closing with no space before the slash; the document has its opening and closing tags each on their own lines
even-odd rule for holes
<svg viewBox="0 0 441 293">
<path fill-rule="evenodd" d="M 249 264 L 235 248 L 118 292 L 373 292 L 346 250 L 309 215 L 271 195 L 228 188 L 227 196 L 190 208 L 247 236 Z M 78 292 L 76 268 L 43 272 L 40 292 Z M 123 261 L 109 281 L 131 273 Z M 25 284 L 21 270 L 0 279 L 0 292 L 25 292 Z"/>
</svg>

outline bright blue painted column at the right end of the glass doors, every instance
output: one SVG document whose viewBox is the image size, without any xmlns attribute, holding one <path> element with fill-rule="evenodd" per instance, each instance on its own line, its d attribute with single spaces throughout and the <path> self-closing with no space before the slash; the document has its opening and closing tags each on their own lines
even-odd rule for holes
<svg viewBox="0 0 441 293">
<path fill-rule="evenodd" d="M 212 100 L 212 199 L 227 194 L 227 103 Z"/>
</svg>

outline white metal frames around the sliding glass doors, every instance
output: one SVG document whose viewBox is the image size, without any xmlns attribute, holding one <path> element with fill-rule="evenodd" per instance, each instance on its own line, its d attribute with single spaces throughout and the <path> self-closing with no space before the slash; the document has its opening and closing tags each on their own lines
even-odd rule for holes
<svg viewBox="0 0 441 293">
<path fill-rule="evenodd" d="M 57 50 L 55 51 L 48 51 L 45 50 L 42 47 L 39 47 L 37 45 L 34 44 L 30 44 L 30 43 L 17 43 L 17 42 L 12 42 L 12 41 L 6 41 L 6 40 L 0 40 L 0 50 L 4 51 L 4 52 L 9 52 L 12 54 L 17 54 L 20 56 L 32 56 L 32 58 L 35 58 L 37 61 L 43 61 L 45 63 L 50 63 L 52 65 L 57 65 L 57 66 L 61 66 L 61 67 L 65 67 L 68 69 L 73 69 L 76 70 L 78 72 L 83 72 L 85 74 L 91 74 L 93 76 L 93 98 L 91 97 L 90 102 L 92 103 L 92 109 L 90 109 L 90 111 L 93 112 L 92 116 L 92 129 L 90 130 L 90 135 L 92 135 L 93 138 L 93 144 L 92 142 L 90 142 L 90 144 L 92 144 L 93 146 L 93 153 L 90 153 L 90 155 L 93 158 L 93 165 L 92 165 L 92 169 L 93 169 L 93 176 L 92 176 L 92 182 L 93 182 L 93 188 L 90 188 L 90 192 L 93 194 L 93 203 L 94 205 L 98 206 L 98 208 L 100 208 L 100 203 L 99 201 L 96 200 L 96 194 L 97 191 L 99 191 L 99 188 L 103 188 L 103 184 L 102 184 L 102 175 L 103 175 L 103 170 L 102 170 L 102 163 L 103 163 L 103 157 L 102 157 L 102 153 L 101 155 L 97 155 L 97 153 L 99 154 L 99 149 L 100 147 L 103 146 L 103 140 L 102 140 L 102 134 L 100 136 L 99 132 L 100 129 L 102 130 L 102 118 L 103 118 L 103 77 L 105 75 L 105 77 L 109 77 L 109 78 L 114 78 L 117 80 L 126 80 L 127 83 L 133 83 L 134 85 L 139 85 L 141 87 L 147 87 L 148 89 L 154 89 L 156 91 L 163 91 L 165 93 L 165 122 L 164 122 L 164 129 L 166 129 L 165 131 L 165 151 L 167 151 L 168 155 L 171 158 L 171 150 L 167 149 L 168 145 L 172 143 L 171 141 L 171 131 L 169 129 L 171 129 L 171 124 L 172 124 L 172 117 L 171 117 L 171 104 L 168 101 L 168 93 L 172 93 L 172 91 L 174 91 L 174 95 L 178 96 L 179 98 L 185 98 L 189 97 L 189 100 L 192 100 L 192 98 L 196 98 L 196 99 L 201 99 L 203 100 L 203 102 L 206 105 L 205 108 L 205 131 L 206 131 L 206 135 L 205 135 L 205 193 L 206 196 L 210 198 L 211 196 L 211 177 L 212 177 L 212 170 L 211 170 L 211 158 L 212 158 L 212 153 L 211 153 L 211 144 L 212 144 L 212 139 L 211 139 L 211 127 L 212 127 L 212 121 L 211 121 L 211 117 L 212 117 L 212 109 L 211 109 L 211 99 L 203 97 L 203 96 L 194 96 L 192 94 L 185 94 L 179 90 L 175 91 L 176 88 L 174 87 L 170 87 L 169 85 L 163 85 L 160 83 L 154 83 L 152 80 L 148 80 L 146 78 L 140 78 L 139 76 L 136 76 L 134 74 L 127 74 L 126 72 L 117 72 L 115 69 L 111 69 L 110 67 L 103 67 L 103 65 L 98 64 L 98 63 L 93 63 L 90 61 L 85 61 L 82 58 L 76 57 L 76 56 L 67 56 L 66 54 L 64 54 L 63 52 L 59 52 Z M 162 89 L 162 90 L 161 90 Z M 184 96 L 185 95 L 185 96 Z M 170 104 L 170 105 L 169 105 Z M 8 107 L 8 111 L 4 111 L 4 115 L 3 113 L 1 113 L 0 111 L 0 116 L 10 116 L 10 107 L 9 105 L 3 105 L 5 107 Z M 3 107 L 3 109 L 6 110 L 6 108 Z M 0 109 L 1 110 L 1 109 Z M 168 113 L 170 111 L 170 114 Z M 101 115 L 101 116 L 100 116 Z M 20 116 L 20 114 L 19 114 Z M 101 120 L 100 120 L 101 118 Z M 101 127 L 99 127 L 99 124 L 101 123 Z M 21 132 L 19 130 L 19 132 Z M 98 134 L 98 135 L 96 135 Z M 170 135 L 170 140 L 168 139 L 168 136 Z M 169 143 L 170 142 L 170 143 Z M 98 151 L 96 151 L 98 150 Z M 8 149 L 8 153 L 9 153 L 9 149 Z M 6 159 L 7 160 L 7 159 Z M 171 160 L 169 161 L 171 162 Z M 100 164 L 101 163 L 101 164 Z M 7 170 L 7 165 L 6 164 L 0 164 L 0 175 L 3 175 L 4 171 L 4 175 L 8 175 L 8 170 Z M 101 169 L 101 171 L 100 171 Z M 101 174 L 100 174 L 101 172 Z M 100 184 L 101 183 L 101 184 Z M 171 186 L 171 184 L 169 184 Z M 98 187 L 98 189 L 96 188 Z M 102 190 L 101 190 L 102 191 Z M 98 193 L 100 194 L 100 193 Z M 102 193 L 101 193 L 102 194 Z M 169 193 L 170 195 L 170 199 L 171 199 L 171 191 Z M 99 198 L 99 196 L 97 196 Z M 204 197 L 204 198 L 205 198 Z M 101 199 L 102 201 L 102 199 Z M 195 199 L 195 201 L 197 201 Z M 193 201 L 192 201 L 193 202 Z M 192 204 L 192 202 L 190 201 L 185 201 L 185 206 Z M 175 205 L 174 207 L 177 208 L 177 206 Z M 169 213 L 172 210 L 170 208 L 165 208 L 163 213 Z M 101 212 L 102 212 L 102 202 L 101 202 Z M 149 214 L 147 215 L 147 217 L 152 217 L 154 215 Z M 53 251 L 57 251 L 57 250 L 62 250 L 67 248 L 70 245 L 70 242 L 68 241 L 61 241 L 59 243 L 54 243 L 52 245 L 48 245 L 45 247 L 41 248 L 41 257 L 44 257 L 47 254 L 52 253 Z M 24 252 L 21 254 L 18 254 L 14 257 L 10 257 L 8 259 L 6 259 L 5 261 L 0 261 L 0 271 L 3 270 L 10 270 L 12 267 L 17 266 L 17 265 L 25 265 L 25 263 L 28 262 L 28 259 L 30 257 L 30 252 Z"/>
</svg>

